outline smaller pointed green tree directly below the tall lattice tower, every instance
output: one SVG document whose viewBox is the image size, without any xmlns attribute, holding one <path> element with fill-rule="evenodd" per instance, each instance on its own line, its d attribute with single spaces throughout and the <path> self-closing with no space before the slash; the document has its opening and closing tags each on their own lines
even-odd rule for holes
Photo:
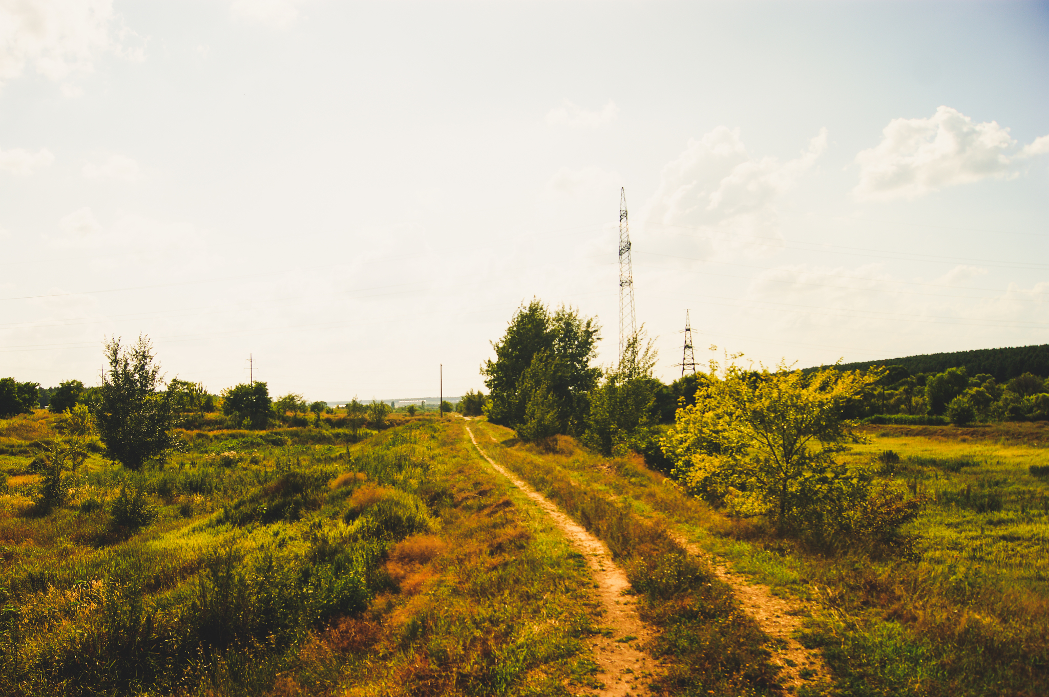
<svg viewBox="0 0 1049 697">
<path fill-rule="evenodd" d="M 583 442 L 604 455 L 629 448 L 659 420 L 656 395 L 663 385 L 652 376 L 658 354 L 650 341 L 641 349 L 643 337 L 642 327 L 627 341 L 619 365 L 590 395 Z"/>
</svg>

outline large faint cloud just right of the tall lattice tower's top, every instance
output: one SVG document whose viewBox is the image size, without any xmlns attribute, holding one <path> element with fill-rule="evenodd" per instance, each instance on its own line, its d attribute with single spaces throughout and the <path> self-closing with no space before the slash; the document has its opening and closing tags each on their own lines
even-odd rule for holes
<svg viewBox="0 0 1049 697">
<path fill-rule="evenodd" d="M 779 235 L 776 204 L 812 169 L 827 149 L 821 129 L 798 157 L 780 162 L 753 157 L 740 129 L 719 126 L 685 150 L 662 171 L 660 186 L 648 199 L 644 220 L 657 236 L 700 240 L 698 253 L 746 245 L 774 244 Z M 701 235 L 697 236 L 699 232 Z M 767 238 L 773 238 L 771 242 Z"/>
</svg>

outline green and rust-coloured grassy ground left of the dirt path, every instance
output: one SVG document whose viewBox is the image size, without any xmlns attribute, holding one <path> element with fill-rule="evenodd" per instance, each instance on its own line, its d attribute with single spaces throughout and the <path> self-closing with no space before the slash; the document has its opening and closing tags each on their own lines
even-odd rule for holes
<svg viewBox="0 0 1049 697">
<path fill-rule="evenodd" d="M 26 467 L 52 422 L 0 421 L 2 694 L 595 684 L 583 560 L 459 429 L 188 432 L 163 471 L 92 456 L 41 515 Z"/>
</svg>

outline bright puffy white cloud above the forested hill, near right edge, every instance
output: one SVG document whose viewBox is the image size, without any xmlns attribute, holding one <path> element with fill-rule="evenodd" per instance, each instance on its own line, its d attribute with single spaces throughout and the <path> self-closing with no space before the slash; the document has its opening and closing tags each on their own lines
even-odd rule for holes
<svg viewBox="0 0 1049 697">
<path fill-rule="evenodd" d="M 857 198 L 913 199 L 946 187 L 1016 174 L 1015 160 L 1049 152 L 1042 136 L 1015 152 L 1009 129 L 975 123 L 950 107 L 928 118 L 894 118 L 876 147 L 856 155 Z"/>
</svg>

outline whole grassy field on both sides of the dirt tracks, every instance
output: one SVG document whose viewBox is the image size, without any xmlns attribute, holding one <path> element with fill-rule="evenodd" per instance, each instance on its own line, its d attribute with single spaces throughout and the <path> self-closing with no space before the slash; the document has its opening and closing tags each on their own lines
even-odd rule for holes
<svg viewBox="0 0 1049 697">
<path fill-rule="evenodd" d="M 660 662 L 630 677 L 645 694 L 1049 692 L 1043 426 L 871 427 L 844 457 L 926 503 L 895 548 L 827 550 L 725 518 L 638 456 L 472 421 L 608 546 L 655 630 L 642 646 L 603 624 L 581 554 L 462 419 L 398 423 L 357 443 L 187 431 L 142 474 L 95 446 L 44 510 L 29 462 L 55 417 L 0 421 L 0 693 L 612 694 L 626 676 L 600 672 L 595 639 Z M 741 605 L 750 583 L 826 666 L 793 665 Z"/>
</svg>

